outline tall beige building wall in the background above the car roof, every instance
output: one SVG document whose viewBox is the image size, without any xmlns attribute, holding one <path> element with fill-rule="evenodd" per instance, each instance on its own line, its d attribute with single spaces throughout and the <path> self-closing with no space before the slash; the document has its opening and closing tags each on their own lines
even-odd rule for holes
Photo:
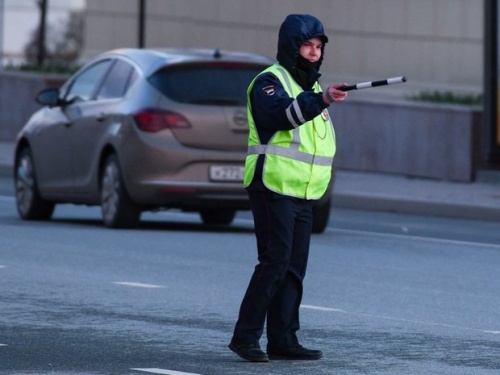
<svg viewBox="0 0 500 375">
<path fill-rule="evenodd" d="M 117 4 L 119 3 L 119 6 Z M 289 13 L 324 23 L 323 82 L 406 75 L 363 96 L 426 89 L 482 91 L 483 0 L 148 0 L 146 46 L 218 47 L 276 55 Z M 137 46 L 137 0 L 87 0 L 84 56 Z"/>
</svg>

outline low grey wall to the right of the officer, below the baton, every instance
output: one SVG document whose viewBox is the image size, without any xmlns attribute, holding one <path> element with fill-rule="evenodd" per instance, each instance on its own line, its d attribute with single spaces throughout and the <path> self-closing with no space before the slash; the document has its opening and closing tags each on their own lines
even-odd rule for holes
<svg viewBox="0 0 500 375">
<path fill-rule="evenodd" d="M 481 111 L 409 101 L 331 107 L 341 169 L 472 181 L 481 164 Z"/>
</svg>

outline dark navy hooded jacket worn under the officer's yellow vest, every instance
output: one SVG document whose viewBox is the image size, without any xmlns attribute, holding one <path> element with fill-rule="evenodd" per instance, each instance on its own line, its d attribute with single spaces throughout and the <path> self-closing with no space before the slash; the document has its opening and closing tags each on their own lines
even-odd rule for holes
<svg viewBox="0 0 500 375">
<path fill-rule="evenodd" d="M 308 71 L 298 67 L 300 46 L 309 39 L 319 37 L 323 42 L 321 58 L 315 69 Z M 267 144 L 271 137 L 280 130 L 292 130 L 294 124 L 287 117 L 286 110 L 297 100 L 305 122 L 312 120 L 327 107 L 321 93 L 314 93 L 312 85 L 320 77 L 319 68 L 323 61 L 325 43 L 328 41 L 323 25 L 311 15 L 289 15 L 280 27 L 278 38 L 278 63 L 287 69 L 304 92 L 297 98 L 288 96 L 280 80 L 272 73 L 260 74 L 250 92 L 250 103 L 255 127 L 262 144 Z M 295 124 L 304 123 L 299 116 L 293 115 Z M 250 188 L 259 187 L 264 156 L 259 156 L 254 182 Z"/>
</svg>

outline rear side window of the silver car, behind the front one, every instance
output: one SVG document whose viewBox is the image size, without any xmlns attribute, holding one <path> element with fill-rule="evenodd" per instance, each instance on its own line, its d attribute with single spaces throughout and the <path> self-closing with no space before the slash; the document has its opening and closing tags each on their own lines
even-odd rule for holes
<svg viewBox="0 0 500 375">
<path fill-rule="evenodd" d="M 129 63 L 116 60 L 97 94 L 97 99 L 121 98 L 137 78 L 137 72 Z"/>
</svg>

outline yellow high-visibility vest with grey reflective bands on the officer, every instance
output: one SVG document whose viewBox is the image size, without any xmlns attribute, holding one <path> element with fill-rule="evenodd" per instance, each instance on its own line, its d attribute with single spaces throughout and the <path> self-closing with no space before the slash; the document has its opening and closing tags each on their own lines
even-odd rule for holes
<svg viewBox="0 0 500 375">
<path fill-rule="evenodd" d="M 303 92 L 281 65 L 274 64 L 262 73 L 266 72 L 278 77 L 290 97 L 296 98 Z M 295 124 L 289 114 L 294 129 L 277 131 L 268 144 L 261 144 L 250 102 L 254 82 L 255 79 L 247 91 L 249 136 L 243 181 L 245 187 L 252 182 L 258 156 L 264 154 L 262 182 L 269 190 L 302 199 L 320 199 L 330 182 L 336 150 L 335 131 L 328 111 L 323 110 L 320 115 L 302 125 Z M 314 92 L 322 92 L 318 82 L 314 84 Z M 300 113 L 296 101 L 291 104 L 293 105 L 295 111 Z"/>
</svg>

